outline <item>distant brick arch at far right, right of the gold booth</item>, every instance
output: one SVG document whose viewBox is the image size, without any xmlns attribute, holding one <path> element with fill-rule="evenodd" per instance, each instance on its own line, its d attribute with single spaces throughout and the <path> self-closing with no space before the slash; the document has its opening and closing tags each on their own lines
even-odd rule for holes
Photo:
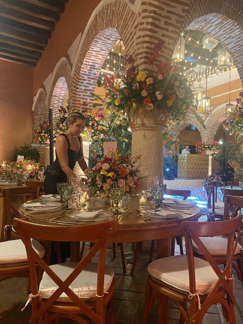
<svg viewBox="0 0 243 324">
<path fill-rule="evenodd" d="M 228 103 L 228 102 L 226 102 Z M 212 115 L 207 118 L 205 121 L 206 131 L 205 131 L 205 142 L 213 142 L 215 139 L 215 135 L 219 126 L 226 121 L 226 103 L 215 108 L 212 112 Z M 232 102 L 233 103 L 233 102 Z M 234 105 L 236 103 L 233 103 Z"/>
</svg>

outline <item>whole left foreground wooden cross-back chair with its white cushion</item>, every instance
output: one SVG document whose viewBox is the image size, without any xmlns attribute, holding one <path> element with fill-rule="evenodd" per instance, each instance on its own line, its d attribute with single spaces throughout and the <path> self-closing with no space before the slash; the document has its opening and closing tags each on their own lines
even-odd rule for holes
<svg viewBox="0 0 243 324">
<path fill-rule="evenodd" d="M 113 294 L 116 282 L 112 268 L 105 265 L 105 259 L 107 240 L 118 231 L 117 222 L 53 228 L 50 225 L 34 224 L 14 218 L 13 227 L 23 241 L 28 255 L 31 294 L 34 296 L 30 323 L 37 324 L 39 318 L 42 318 L 42 324 L 51 323 L 52 320 L 59 323 L 62 317 L 71 318 L 78 323 L 88 323 L 82 316 L 85 314 L 94 323 L 104 324 L 107 306 L 111 311 L 111 323 L 115 323 Z M 96 243 L 82 261 L 65 262 L 49 267 L 32 249 L 31 236 L 52 241 L 85 240 Z M 90 262 L 97 252 L 98 263 Z M 34 271 L 35 261 L 44 271 L 39 287 Z M 83 301 L 82 298 L 87 301 Z"/>
</svg>

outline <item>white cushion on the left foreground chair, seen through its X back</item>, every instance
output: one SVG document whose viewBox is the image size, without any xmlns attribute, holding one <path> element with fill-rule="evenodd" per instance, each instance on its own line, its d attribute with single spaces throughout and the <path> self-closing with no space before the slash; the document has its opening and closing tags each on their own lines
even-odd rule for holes
<svg viewBox="0 0 243 324">
<path fill-rule="evenodd" d="M 51 265 L 52 271 L 58 275 L 61 280 L 65 280 L 71 272 L 76 268 L 78 262 L 65 262 L 60 264 Z M 84 270 L 76 277 L 76 279 L 69 286 L 70 289 L 83 301 L 95 299 L 97 294 L 97 270 L 98 263 L 90 262 Z M 114 271 L 108 265 L 105 266 L 104 278 L 104 292 L 110 288 L 114 277 Z M 39 293 L 42 298 L 50 298 L 51 295 L 57 290 L 58 286 L 55 282 L 44 272 L 41 279 Z M 73 301 L 65 294 L 62 293 L 57 300 L 58 302 L 73 303 Z"/>
</svg>

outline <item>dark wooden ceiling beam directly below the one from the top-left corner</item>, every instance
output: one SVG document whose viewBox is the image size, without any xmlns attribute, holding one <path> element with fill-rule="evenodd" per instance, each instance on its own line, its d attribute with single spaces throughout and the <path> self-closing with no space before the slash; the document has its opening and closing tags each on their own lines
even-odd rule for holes
<svg viewBox="0 0 243 324">
<path fill-rule="evenodd" d="M 41 29 L 46 29 L 53 31 L 55 29 L 55 22 L 47 19 L 42 19 L 34 17 L 32 15 L 25 14 L 23 12 L 17 11 L 13 8 L 7 8 L 0 5 L 0 17 L 9 18 L 23 24 L 38 27 Z"/>
</svg>

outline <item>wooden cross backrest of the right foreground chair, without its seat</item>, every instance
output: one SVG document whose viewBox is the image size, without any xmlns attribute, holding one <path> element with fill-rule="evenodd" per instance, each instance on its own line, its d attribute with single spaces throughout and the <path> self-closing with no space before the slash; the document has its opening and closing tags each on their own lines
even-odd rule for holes
<svg viewBox="0 0 243 324">
<path fill-rule="evenodd" d="M 227 298 L 229 298 L 234 304 L 234 295 L 233 295 L 233 274 L 232 274 L 232 261 L 234 252 L 237 246 L 237 239 L 235 239 L 235 232 L 238 231 L 240 228 L 242 221 L 242 215 L 240 211 L 235 218 L 230 220 L 222 221 L 222 222 L 183 222 L 180 226 L 180 233 L 184 235 L 185 242 L 186 242 L 186 250 L 187 250 L 187 260 L 188 260 L 188 270 L 189 270 L 189 286 L 190 286 L 190 293 L 195 294 L 192 296 L 190 302 L 190 308 L 197 309 L 196 307 L 196 283 L 195 283 L 195 265 L 194 265 L 194 256 L 193 256 L 193 246 L 192 240 L 198 246 L 198 248 L 202 251 L 203 256 L 209 262 L 211 267 L 213 268 L 214 272 L 218 276 L 217 283 L 215 284 L 214 288 L 210 292 L 210 294 L 204 299 L 201 305 L 201 311 L 195 312 L 192 318 L 190 318 L 190 322 L 197 323 L 199 318 L 206 312 L 210 301 L 212 301 L 217 294 L 219 289 L 222 287 L 225 289 L 227 293 Z M 209 253 L 207 248 L 204 246 L 203 242 L 201 241 L 200 237 L 209 237 L 209 236 L 220 236 L 227 233 L 228 240 L 227 240 L 227 255 L 226 255 L 226 265 L 224 267 L 223 272 L 219 269 L 217 263 L 215 262 L 212 255 Z M 222 285 L 222 287 L 221 287 Z M 220 293 L 221 294 L 221 293 Z"/>
</svg>

